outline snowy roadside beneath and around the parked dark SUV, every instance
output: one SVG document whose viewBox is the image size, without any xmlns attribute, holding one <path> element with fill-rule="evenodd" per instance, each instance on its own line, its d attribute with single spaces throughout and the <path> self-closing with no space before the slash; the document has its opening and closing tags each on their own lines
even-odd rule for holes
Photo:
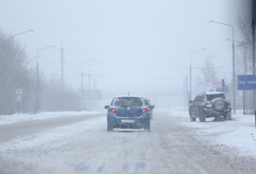
<svg viewBox="0 0 256 174">
<path fill-rule="evenodd" d="M 243 110 L 232 114 L 232 121 L 213 121 L 206 118 L 206 122 L 191 122 L 188 111 L 173 109 L 166 112 L 186 127 L 197 128 L 197 135 L 212 142 L 216 146 L 229 146 L 238 150 L 237 155 L 256 157 L 256 128 L 255 116 L 243 115 Z"/>
</svg>

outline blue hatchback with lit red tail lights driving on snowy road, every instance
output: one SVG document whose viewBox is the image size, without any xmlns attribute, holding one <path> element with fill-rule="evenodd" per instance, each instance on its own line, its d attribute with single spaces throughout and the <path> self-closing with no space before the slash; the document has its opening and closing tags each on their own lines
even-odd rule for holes
<svg viewBox="0 0 256 174">
<path fill-rule="evenodd" d="M 108 109 L 108 131 L 113 128 L 144 128 L 150 131 L 150 109 L 142 96 L 123 95 L 115 96 Z"/>
</svg>

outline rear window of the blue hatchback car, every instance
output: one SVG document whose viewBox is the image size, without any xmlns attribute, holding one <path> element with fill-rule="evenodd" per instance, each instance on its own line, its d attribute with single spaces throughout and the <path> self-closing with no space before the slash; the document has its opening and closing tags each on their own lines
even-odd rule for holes
<svg viewBox="0 0 256 174">
<path fill-rule="evenodd" d="M 142 100 L 138 97 L 118 97 L 114 100 L 115 106 L 130 105 L 130 106 L 142 106 Z"/>
</svg>

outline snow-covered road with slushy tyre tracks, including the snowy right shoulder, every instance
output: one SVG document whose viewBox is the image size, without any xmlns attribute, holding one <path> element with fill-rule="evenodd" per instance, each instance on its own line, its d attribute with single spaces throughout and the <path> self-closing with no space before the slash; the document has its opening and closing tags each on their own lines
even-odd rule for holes
<svg viewBox="0 0 256 174">
<path fill-rule="evenodd" d="M 0 173 L 256 173 L 256 146 L 229 144 L 255 132 L 254 120 L 190 122 L 176 110 L 153 118 L 150 133 L 107 132 L 106 114 L 1 124 Z M 247 142 L 255 145 L 252 136 Z"/>
</svg>

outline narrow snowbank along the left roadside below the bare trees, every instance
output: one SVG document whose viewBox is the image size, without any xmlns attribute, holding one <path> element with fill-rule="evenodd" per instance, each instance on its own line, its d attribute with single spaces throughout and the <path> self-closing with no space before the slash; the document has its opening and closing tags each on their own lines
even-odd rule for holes
<svg viewBox="0 0 256 174">
<path fill-rule="evenodd" d="M 0 125 L 1 124 L 10 124 L 18 121 L 26 121 L 32 119 L 46 119 L 46 118 L 56 118 L 60 116 L 69 116 L 69 115 L 91 115 L 91 114 L 106 114 L 106 112 L 90 112 L 90 111 L 66 111 L 66 112 L 40 112 L 37 114 L 13 114 L 13 115 L 1 115 L 0 116 Z"/>
</svg>

